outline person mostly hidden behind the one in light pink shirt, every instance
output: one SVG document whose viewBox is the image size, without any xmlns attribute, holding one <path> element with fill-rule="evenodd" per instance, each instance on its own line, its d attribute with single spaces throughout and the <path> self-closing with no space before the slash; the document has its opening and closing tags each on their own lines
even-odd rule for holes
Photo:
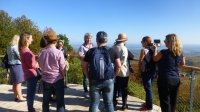
<svg viewBox="0 0 200 112">
<path fill-rule="evenodd" d="M 61 50 L 63 52 L 64 58 L 65 58 L 65 62 L 66 62 L 65 70 L 66 70 L 66 73 L 65 73 L 65 76 L 64 76 L 64 86 L 65 86 L 65 88 L 68 88 L 68 86 L 67 86 L 67 71 L 69 70 L 69 63 L 67 61 L 67 57 L 68 57 L 67 49 L 63 47 L 64 46 L 64 42 L 65 42 L 64 40 L 58 40 L 57 49 L 59 49 L 59 50 Z"/>
</svg>

